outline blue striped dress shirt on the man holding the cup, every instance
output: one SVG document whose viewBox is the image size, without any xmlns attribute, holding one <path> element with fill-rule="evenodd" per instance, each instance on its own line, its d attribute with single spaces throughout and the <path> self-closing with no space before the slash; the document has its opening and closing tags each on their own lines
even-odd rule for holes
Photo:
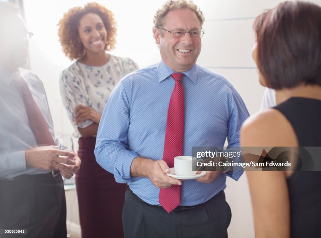
<svg viewBox="0 0 321 238">
<path fill-rule="evenodd" d="M 135 157 L 162 159 L 169 99 L 175 86 L 174 71 L 162 61 L 126 75 L 110 95 L 102 114 L 95 147 L 97 162 L 128 183 L 145 202 L 160 205 L 160 189 L 148 177 L 131 177 Z M 239 146 L 239 131 L 249 116 L 239 93 L 222 76 L 195 64 L 182 78 L 185 98 L 183 155 L 193 146 Z M 226 176 L 238 180 L 242 171 L 220 174 L 211 183 L 185 180 L 181 204 L 193 206 L 226 188 Z"/>
</svg>

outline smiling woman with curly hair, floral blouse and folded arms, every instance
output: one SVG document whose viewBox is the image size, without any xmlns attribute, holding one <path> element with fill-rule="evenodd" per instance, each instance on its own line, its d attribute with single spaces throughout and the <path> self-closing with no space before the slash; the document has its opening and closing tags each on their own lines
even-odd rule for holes
<svg viewBox="0 0 321 238">
<path fill-rule="evenodd" d="M 98 3 L 74 7 L 58 23 L 66 56 L 74 63 L 62 72 L 60 92 L 79 138 L 82 166 L 76 175 L 82 238 L 123 237 L 122 207 L 126 184 L 95 159 L 96 134 L 111 91 L 126 74 L 137 70 L 129 58 L 107 54 L 116 44 L 113 13 Z M 112 123 L 112 122 L 110 122 Z"/>
</svg>

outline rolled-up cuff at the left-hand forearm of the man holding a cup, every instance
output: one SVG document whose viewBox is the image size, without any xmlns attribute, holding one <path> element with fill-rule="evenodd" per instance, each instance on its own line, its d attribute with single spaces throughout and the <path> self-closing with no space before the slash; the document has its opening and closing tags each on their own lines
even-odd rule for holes
<svg viewBox="0 0 321 238">
<path fill-rule="evenodd" d="M 138 154 L 131 150 L 122 151 L 115 161 L 115 180 L 118 183 L 127 183 L 131 180 L 130 167 L 134 158 L 138 157 Z"/>
</svg>

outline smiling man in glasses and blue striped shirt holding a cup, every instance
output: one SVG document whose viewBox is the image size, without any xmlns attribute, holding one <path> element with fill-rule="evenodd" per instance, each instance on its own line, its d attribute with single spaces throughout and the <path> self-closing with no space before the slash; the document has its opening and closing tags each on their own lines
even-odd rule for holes
<svg viewBox="0 0 321 238">
<path fill-rule="evenodd" d="M 168 1 L 154 17 L 160 48 L 158 64 L 125 76 L 114 89 L 100 120 L 97 162 L 128 189 L 123 208 L 125 237 L 227 237 L 230 207 L 223 190 L 226 176 L 242 171 L 208 171 L 196 180 L 168 176 L 162 160 L 174 72 L 184 73 L 183 154 L 192 146 L 239 146 L 248 117 L 238 92 L 223 77 L 196 64 L 203 36 L 202 12 L 189 1 Z M 168 213 L 160 189 L 181 186 L 180 205 Z"/>
</svg>

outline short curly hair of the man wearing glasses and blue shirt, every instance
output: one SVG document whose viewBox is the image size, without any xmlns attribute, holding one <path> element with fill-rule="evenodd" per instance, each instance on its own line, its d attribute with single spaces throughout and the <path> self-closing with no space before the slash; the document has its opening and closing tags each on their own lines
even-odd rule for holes
<svg viewBox="0 0 321 238">
<path fill-rule="evenodd" d="M 157 10 L 155 16 L 154 16 L 154 26 L 153 26 L 153 31 L 155 28 L 158 28 L 160 30 L 160 36 L 163 37 L 163 31 L 161 30 L 160 26 L 163 25 L 163 20 L 166 17 L 167 13 L 172 10 L 178 10 L 178 9 L 183 9 L 183 8 L 188 8 L 192 10 L 197 18 L 201 22 L 201 26 L 203 25 L 205 18 L 203 16 L 203 12 L 197 7 L 193 1 L 191 0 L 169 0 L 165 2 L 160 9 Z"/>
</svg>

